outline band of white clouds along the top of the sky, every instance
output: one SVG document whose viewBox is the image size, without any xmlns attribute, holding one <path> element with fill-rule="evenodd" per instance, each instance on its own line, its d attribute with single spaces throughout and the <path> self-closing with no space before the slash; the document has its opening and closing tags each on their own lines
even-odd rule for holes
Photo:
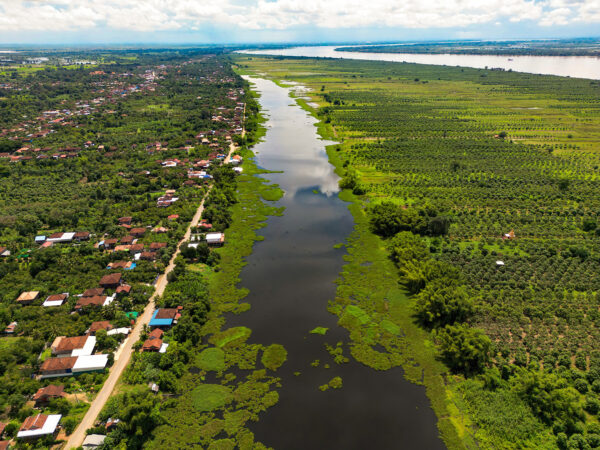
<svg viewBox="0 0 600 450">
<path fill-rule="evenodd" d="M 452 28 L 503 20 L 600 23 L 600 0 L 0 0 L 2 31 Z"/>
</svg>

